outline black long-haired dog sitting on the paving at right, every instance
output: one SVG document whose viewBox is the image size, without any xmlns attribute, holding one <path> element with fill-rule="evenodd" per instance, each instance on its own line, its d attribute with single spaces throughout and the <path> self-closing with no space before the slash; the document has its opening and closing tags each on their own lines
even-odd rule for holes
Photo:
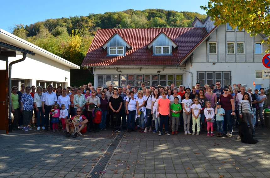
<svg viewBox="0 0 270 178">
<path fill-rule="evenodd" d="M 258 142 L 258 140 L 253 139 L 246 122 L 241 122 L 238 125 L 238 130 L 238 135 L 241 138 L 241 142 L 245 144 L 256 144 Z"/>
</svg>

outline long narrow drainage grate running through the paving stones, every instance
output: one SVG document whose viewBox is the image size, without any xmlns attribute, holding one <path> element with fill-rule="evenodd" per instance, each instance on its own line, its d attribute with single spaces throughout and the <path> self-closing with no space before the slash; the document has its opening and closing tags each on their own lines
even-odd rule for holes
<svg viewBox="0 0 270 178">
<path fill-rule="evenodd" d="M 92 175 L 91 178 L 98 178 L 99 172 L 103 171 L 105 166 L 107 165 L 108 161 L 113 156 L 114 151 L 117 149 L 118 144 L 122 140 L 124 136 L 124 132 L 120 132 L 113 140 L 111 145 L 107 148 L 107 150 L 103 153 L 102 157 L 97 161 L 96 165 L 93 167 L 93 169 L 89 172 L 89 174 L 86 176 Z M 97 174 L 95 174 L 97 172 Z"/>
</svg>

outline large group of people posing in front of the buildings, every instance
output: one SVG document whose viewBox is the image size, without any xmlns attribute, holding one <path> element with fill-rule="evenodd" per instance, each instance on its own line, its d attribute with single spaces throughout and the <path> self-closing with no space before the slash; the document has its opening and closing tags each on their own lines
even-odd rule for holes
<svg viewBox="0 0 270 178">
<path fill-rule="evenodd" d="M 178 134 L 179 126 L 184 127 L 184 134 L 199 135 L 202 129 L 207 131 L 207 136 L 213 136 L 214 127 L 217 127 L 218 137 L 231 136 L 236 117 L 235 127 L 239 122 L 250 125 L 252 135 L 255 136 L 254 127 L 258 125 L 259 115 L 261 127 L 263 124 L 262 106 L 266 99 L 264 89 L 252 93 L 252 89 L 234 84 L 233 86 L 204 85 L 200 83 L 192 88 L 180 85 L 150 86 L 133 88 L 128 86 L 114 88 L 110 83 L 108 88 L 94 87 L 91 83 L 80 87 L 47 89 L 41 86 L 26 86 L 22 83 L 21 90 L 12 87 L 11 107 L 14 115 L 13 129 L 23 131 L 32 130 L 31 121 L 34 112 L 37 130 L 67 132 L 69 137 L 71 123 L 74 117 L 79 117 L 78 132 L 98 132 L 113 128 L 113 132 L 121 129 L 153 132 L 162 135 Z M 102 110 L 100 124 L 93 122 L 95 107 Z M 79 116 L 77 116 L 79 115 Z M 191 119 L 192 117 L 192 119 Z M 121 122 L 122 121 L 122 122 Z M 61 126 L 62 125 L 62 126 Z M 192 127 L 190 127 L 192 126 Z M 164 130 L 164 132 L 163 132 Z M 192 130 L 192 133 L 191 133 Z M 171 133 L 169 133 L 171 131 Z M 73 137 L 77 137 L 76 132 Z"/>
</svg>

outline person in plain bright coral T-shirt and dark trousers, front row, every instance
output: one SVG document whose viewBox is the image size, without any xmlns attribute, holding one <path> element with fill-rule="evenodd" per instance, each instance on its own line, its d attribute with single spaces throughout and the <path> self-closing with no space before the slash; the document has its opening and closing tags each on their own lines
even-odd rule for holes
<svg viewBox="0 0 270 178">
<path fill-rule="evenodd" d="M 167 92 L 162 92 L 162 98 L 157 102 L 157 117 L 159 117 L 159 136 L 163 133 L 163 123 L 165 125 L 165 135 L 170 135 L 168 132 L 168 119 L 170 116 L 170 100 L 167 98 Z"/>
</svg>

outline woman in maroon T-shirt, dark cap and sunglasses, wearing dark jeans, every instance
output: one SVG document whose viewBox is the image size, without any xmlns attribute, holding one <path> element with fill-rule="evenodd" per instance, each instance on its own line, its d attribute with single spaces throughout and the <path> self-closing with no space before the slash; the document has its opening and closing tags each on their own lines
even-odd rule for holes
<svg viewBox="0 0 270 178">
<path fill-rule="evenodd" d="M 234 97 L 229 93 L 229 87 L 224 86 L 223 94 L 219 97 L 218 101 L 221 102 L 222 108 L 225 110 L 223 132 L 220 134 L 225 134 L 226 136 L 232 136 L 233 131 L 233 117 L 235 114 L 234 110 Z"/>
</svg>

